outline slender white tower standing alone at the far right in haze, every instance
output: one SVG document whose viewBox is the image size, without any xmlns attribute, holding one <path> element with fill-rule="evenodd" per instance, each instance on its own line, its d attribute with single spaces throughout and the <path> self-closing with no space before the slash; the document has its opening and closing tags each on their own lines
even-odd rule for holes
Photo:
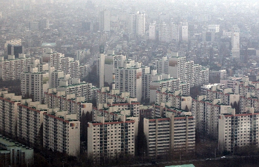
<svg viewBox="0 0 259 167">
<path fill-rule="evenodd" d="M 232 45 L 232 58 L 240 57 L 240 47 L 239 47 L 239 28 L 237 25 L 232 27 L 231 35 L 231 45 Z"/>
</svg>

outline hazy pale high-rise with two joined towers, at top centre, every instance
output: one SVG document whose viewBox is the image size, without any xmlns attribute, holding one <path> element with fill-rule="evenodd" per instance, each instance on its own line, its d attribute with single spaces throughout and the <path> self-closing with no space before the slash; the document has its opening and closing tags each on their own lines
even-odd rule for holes
<svg viewBox="0 0 259 167">
<path fill-rule="evenodd" d="M 146 16 L 140 12 L 128 16 L 128 33 L 136 35 L 145 34 Z"/>
</svg>

